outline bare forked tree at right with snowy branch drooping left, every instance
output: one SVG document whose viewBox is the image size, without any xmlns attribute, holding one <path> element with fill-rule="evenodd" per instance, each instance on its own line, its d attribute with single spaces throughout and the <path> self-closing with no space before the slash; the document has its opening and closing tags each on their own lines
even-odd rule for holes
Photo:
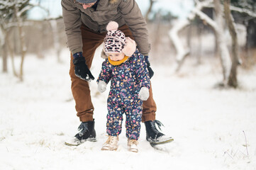
<svg viewBox="0 0 256 170">
<path fill-rule="evenodd" d="M 169 36 L 174 43 L 174 47 L 177 50 L 177 67 L 175 69 L 176 72 L 182 67 L 182 63 L 184 62 L 185 57 L 189 54 L 189 49 L 184 49 L 182 45 L 182 41 L 179 39 L 179 31 L 186 28 L 190 21 L 195 18 L 195 16 L 199 16 L 201 20 L 208 24 L 211 28 L 213 28 L 217 45 L 219 49 L 219 55 L 221 59 L 221 66 L 223 68 L 223 86 L 238 86 L 237 82 L 237 66 L 238 66 L 238 40 L 237 40 L 237 33 L 235 30 L 235 23 L 233 21 L 233 17 L 230 13 L 230 0 L 224 1 L 224 7 L 221 5 L 220 0 L 206 0 L 206 1 L 199 1 L 195 0 L 196 6 L 191 11 L 187 20 L 180 21 L 179 23 L 175 24 L 172 30 L 169 31 Z M 201 11 L 204 7 L 213 7 L 216 11 L 215 20 L 209 18 L 205 13 Z M 234 9 L 234 7 L 232 7 Z M 224 9 L 225 9 L 225 16 L 226 20 L 223 18 L 224 16 Z M 236 8 L 238 11 L 238 8 Z M 245 12 L 245 11 L 243 11 Z M 250 13 L 250 11 L 247 11 Z M 226 22 L 225 22 L 226 21 Z M 225 26 L 228 24 L 228 30 L 230 32 L 232 38 L 232 57 L 230 59 L 230 53 L 228 51 L 228 45 L 226 44 L 224 30 Z"/>
</svg>

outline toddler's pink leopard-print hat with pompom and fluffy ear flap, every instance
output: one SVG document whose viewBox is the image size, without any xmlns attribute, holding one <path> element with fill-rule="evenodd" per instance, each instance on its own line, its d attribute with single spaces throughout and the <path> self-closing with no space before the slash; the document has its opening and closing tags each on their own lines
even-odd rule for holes
<svg viewBox="0 0 256 170">
<path fill-rule="evenodd" d="M 121 30 L 118 30 L 118 23 L 111 21 L 106 26 L 106 38 L 104 38 L 104 52 L 120 53 L 123 52 L 130 57 L 136 50 L 135 41 L 126 38 L 126 35 Z"/>
</svg>

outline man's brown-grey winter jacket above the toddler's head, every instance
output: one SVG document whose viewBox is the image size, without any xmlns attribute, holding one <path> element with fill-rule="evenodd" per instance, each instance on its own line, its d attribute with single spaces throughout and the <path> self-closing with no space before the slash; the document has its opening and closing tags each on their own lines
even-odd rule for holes
<svg viewBox="0 0 256 170">
<path fill-rule="evenodd" d="M 84 9 L 75 0 L 62 0 L 61 4 L 67 45 L 72 54 L 82 52 L 82 23 L 97 33 L 104 33 L 109 21 L 116 21 L 119 26 L 126 24 L 140 52 L 143 55 L 150 52 L 147 24 L 135 0 L 99 0 L 96 10 Z"/>
</svg>

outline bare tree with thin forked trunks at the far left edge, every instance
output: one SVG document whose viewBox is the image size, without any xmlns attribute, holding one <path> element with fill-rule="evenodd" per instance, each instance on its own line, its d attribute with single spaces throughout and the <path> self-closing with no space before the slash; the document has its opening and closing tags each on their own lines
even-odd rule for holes
<svg viewBox="0 0 256 170">
<path fill-rule="evenodd" d="M 40 2 L 40 1 L 39 1 Z M 11 61 L 13 66 L 13 74 L 23 81 L 23 63 L 26 55 L 26 43 L 24 40 L 25 33 L 23 31 L 23 26 L 25 22 L 23 21 L 23 15 L 31 8 L 39 6 L 39 4 L 30 4 L 29 0 L 0 0 L 0 28 L 4 38 L 1 38 L 1 49 L 4 60 L 4 72 L 7 72 L 7 55 L 8 51 L 11 55 Z M 13 48 L 10 45 L 9 33 L 11 28 L 18 28 L 18 42 L 21 52 L 21 63 L 19 72 L 16 72 L 14 67 L 14 57 Z"/>
</svg>

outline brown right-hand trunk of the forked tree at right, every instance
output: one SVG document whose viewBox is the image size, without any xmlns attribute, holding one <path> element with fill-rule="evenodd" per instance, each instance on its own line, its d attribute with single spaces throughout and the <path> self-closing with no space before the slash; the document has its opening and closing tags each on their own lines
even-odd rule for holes
<svg viewBox="0 0 256 170">
<path fill-rule="evenodd" d="M 237 87 L 238 80 L 237 80 L 237 67 L 238 67 L 238 38 L 237 33 L 235 31 L 235 26 L 233 23 L 233 17 L 230 13 L 230 0 L 224 0 L 224 13 L 226 23 L 228 23 L 228 30 L 232 38 L 232 55 L 231 55 L 231 69 L 230 74 L 228 77 L 228 86 Z"/>
</svg>

